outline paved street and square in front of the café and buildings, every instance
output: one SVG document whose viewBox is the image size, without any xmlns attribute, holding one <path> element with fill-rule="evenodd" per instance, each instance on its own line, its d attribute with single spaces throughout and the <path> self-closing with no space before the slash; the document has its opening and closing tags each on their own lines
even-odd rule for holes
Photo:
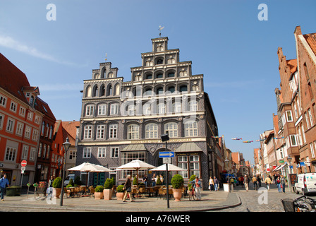
<svg viewBox="0 0 316 226">
<path fill-rule="evenodd" d="M 284 212 L 281 199 L 296 198 L 299 195 L 291 193 L 286 188 L 286 193 L 279 193 L 277 186 L 272 185 L 267 191 L 265 184 L 259 191 L 247 192 L 241 186 L 236 186 L 231 193 L 221 189 L 218 192 L 202 191 L 202 201 L 188 201 L 182 198 L 181 202 L 169 201 L 170 208 L 166 208 L 166 198 L 136 198 L 135 203 L 123 203 L 113 198 L 111 201 L 95 200 L 95 198 L 63 198 L 63 206 L 47 202 L 44 197 L 35 198 L 34 195 L 5 197 L 0 203 L 0 211 L 6 212 L 182 212 L 182 211 L 208 211 L 208 212 Z"/>
</svg>

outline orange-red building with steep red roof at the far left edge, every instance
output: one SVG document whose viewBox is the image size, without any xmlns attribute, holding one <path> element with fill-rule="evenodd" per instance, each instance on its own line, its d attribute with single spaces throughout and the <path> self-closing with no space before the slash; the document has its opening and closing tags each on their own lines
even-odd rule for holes
<svg viewBox="0 0 316 226">
<path fill-rule="evenodd" d="M 44 114 L 37 108 L 39 88 L 25 73 L 0 54 L 0 169 L 10 185 L 21 184 L 20 162 L 27 160 L 22 184 L 35 177 L 40 126 Z"/>
</svg>

